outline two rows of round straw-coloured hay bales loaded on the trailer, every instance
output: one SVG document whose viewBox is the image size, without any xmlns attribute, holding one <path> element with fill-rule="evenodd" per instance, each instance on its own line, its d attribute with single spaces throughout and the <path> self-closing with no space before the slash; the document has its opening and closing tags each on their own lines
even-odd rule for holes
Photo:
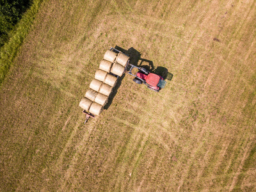
<svg viewBox="0 0 256 192">
<path fill-rule="evenodd" d="M 128 61 L 129 56 L 122 52 L 117 54 L 112 49 L 106 51 L 103 60 L 100 62 L 99 69 L 96 71 L 92 83 L 90 83 L 90 89 L 85 93 L 79 106 L 93 115 L 100 115 L 116 84 L 116 76 L 124 74 L 125 65 L 127 65 Z"/>
</svg>

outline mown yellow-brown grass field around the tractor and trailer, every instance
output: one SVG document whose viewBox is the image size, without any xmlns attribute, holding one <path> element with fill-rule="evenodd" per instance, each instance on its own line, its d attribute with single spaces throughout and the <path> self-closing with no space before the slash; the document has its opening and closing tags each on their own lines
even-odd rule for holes
<svg viewBox="0 0 256 192">
<path fill-rule="evenodd" d="M 255 191 L 255 3 L 46 1 L 1 85 L 0 191 Z M 173 79 L 125 75 L 84 125 L 115 45 Z"/>
</svg>

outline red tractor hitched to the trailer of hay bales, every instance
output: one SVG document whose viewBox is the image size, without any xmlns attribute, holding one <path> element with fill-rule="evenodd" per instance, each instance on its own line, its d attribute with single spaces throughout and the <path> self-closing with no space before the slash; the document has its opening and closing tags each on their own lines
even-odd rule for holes
<svg viewBox="0 0 256 192">
<path fill-rule="evenodd" d="M 147 69 L 143 67 L 136 67 L 135 65 L 132 65 L 129 63 L 129 72 L 127 70 L 127 73 L 134 76 L 135 78 L 133 81 L 138 84 L 145 84 L 150 90 L 153 90 L 155 92 L 159 92 L 162 88 L 164 88 L 166 81 L 164 81 L 163 77 L 148 72 Z M 132 74 L 132 69 L 138 68 L 138 72 L 136 75 Z"/>
</svg>

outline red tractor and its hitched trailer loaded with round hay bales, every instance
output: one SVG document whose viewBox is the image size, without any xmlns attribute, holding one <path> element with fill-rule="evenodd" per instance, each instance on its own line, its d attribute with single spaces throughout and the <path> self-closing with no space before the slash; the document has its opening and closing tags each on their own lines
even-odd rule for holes
<svg viewBox="0 0 256 192">
<path fill-rule="evenodd" d="M 138 72 L 133 73 L 136 68 Z M 95 77 L 90 83 L 89 90 L 85 93 L 79 106 L 86 114 L 86 120 L 100 115 L 104 105 L 108 102 L 108 97 L 115 87 L 118 78 L 126 73 L 134 76 L 133 81 L 138 84 L 145 84 L 147 88 L 159 92 L 164 88 L 166 81 L 162 76 L 149 72 L 143 67 L 137 67 L 129 63 L 129 56 L 124 52 L 111 47 L 103 56 L 99 69 L 95 72 Z"/>
</svg>

